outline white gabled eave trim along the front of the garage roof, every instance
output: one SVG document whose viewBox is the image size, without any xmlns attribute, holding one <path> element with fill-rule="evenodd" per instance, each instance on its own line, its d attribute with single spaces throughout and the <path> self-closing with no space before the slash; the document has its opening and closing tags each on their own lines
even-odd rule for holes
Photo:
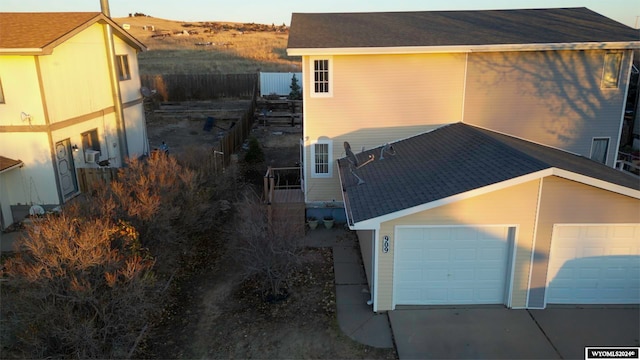
<svg viewBox="0 0 640 360">
<path fill-rule="evenodd" d="M 513 179 L 505 180 L 499 183 L 473 189 L 464 193 L 460 193 L 460 194 L 456 194 L 446 198 L 431 201 L 431 202 L 414 206 L 411 208 L 399 210 L 390 214 L 385 214 L 375 218 L 358 221 L 358 222 L 355 222 L 353 225 L 350 225 L 349 229 L 351 230 L 377 229 L 380 227 L 381 223 L 386 221 L 395 220 L 407 215 L 412 215 L 425 210 L 430 210 L 430 209 L 451 204 L 460 200 L 469 199 L 478 195 L 488 194 L 497 190 L 505 189 L 508 187 L 523 184 L 525 182 L 529 182 L 533 180 L 538 180 L 548 176 L 557 176 L 567 180 L 572 180 L 572 181 L 576 181 L 586 185 L 594 186 L 603 190 L 608 190 L 617 194 L 629 196 L 635 199 L 640 199 L 640 190 L 631 189 L 626 186 L 613 184 L 604 180 L 595 179 L 590 176 L 581 175 L 568 170 L 551 167 L 548 169 L 522 175 Z"/>
</svg>

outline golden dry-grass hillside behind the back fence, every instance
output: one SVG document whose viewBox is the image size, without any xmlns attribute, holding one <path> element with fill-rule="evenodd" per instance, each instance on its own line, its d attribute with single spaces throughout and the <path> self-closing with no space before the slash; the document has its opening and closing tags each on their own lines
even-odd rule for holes
<svg viewBox="0 0 640 360">
<path fill-rule="evenodd" d="M 139 54 L 141 74 L 239 74 L 300 71 L 286 53 L 284 25 L 183 22 L 133 16 L 114 18 L 149 51 Z"/>
</svg>

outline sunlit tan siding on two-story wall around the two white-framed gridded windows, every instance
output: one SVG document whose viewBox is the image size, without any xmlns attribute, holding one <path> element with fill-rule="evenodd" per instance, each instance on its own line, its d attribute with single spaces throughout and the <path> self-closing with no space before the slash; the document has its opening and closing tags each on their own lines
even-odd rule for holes
<svg viewBox="0 0 640 360">
<path fill-rule="evenodd" d="M 464 54 L 332 56 L 331 97 L 311 97 L 303 57 L 304 139 L 307 201 L 341 200 L 334 176 L 311 178 L 309 147 L 333 140 L 333 158 L 345 156 L 344 141 L 358 153 L 462 120 Z"/>
</svg>

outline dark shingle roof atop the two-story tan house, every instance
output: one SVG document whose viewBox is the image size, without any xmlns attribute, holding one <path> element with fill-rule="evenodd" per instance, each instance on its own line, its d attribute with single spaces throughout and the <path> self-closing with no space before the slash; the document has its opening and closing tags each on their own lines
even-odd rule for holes
<svg viewBox="0 0 640 360">
<path fill-rule="evenodd" d="M 557 44 L 640 40 L 587 8 L 294 13 L 288 48 Z"/>
</svg>

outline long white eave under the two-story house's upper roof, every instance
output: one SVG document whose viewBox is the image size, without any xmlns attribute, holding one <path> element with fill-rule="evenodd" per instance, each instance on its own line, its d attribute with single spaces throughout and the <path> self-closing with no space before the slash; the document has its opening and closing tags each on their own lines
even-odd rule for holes
<svg viewBox="0 0 640 360">
<path fill-rule="evenodd" d="M 340 48 L 287 48 L 289 56 L 305 55 L 373 55 L 373 54 L 430 54 L 510 52 L 544 50 L 624 50 L 640 49 L 640 41 L 576 42 L 542 44 L 487 44 L 445 46 L 390 46 L 390 47 L 340 47 Z"/>
</svg>

